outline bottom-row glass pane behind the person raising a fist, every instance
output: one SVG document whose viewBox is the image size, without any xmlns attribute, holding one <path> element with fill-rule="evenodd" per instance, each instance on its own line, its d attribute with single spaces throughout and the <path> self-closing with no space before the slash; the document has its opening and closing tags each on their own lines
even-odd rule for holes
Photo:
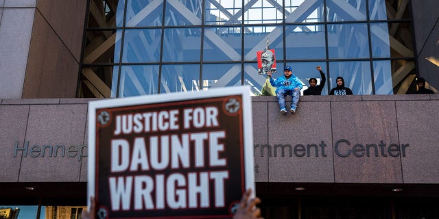
<svg viewBox="0 0 439 219">
<path fill-rule="evenodd" d="M 296 77 L 298 77 L 300 81 L 302 81 L 302 90 L 300 90 L 300 93 L 302 95 L 303 95 L 303 91 L 309 88 L 308 80 L 311 77 L 316 78 L 317 84 L 320 84 L 322 78 L 320 77 L 320 72 L 316 69 L 317 66 L 322 67 L 323 73 L 328 78 L 326 62 L 294 62 L 294 63 L 287 63 L 287 66 L 290 66 L 292 68 L 293 75 L 296 75 Z M 322 95 L 327 95 L 327 94 L 328 94 L 328 80 L 325 83 L 322 90 Z"/>
</svg>

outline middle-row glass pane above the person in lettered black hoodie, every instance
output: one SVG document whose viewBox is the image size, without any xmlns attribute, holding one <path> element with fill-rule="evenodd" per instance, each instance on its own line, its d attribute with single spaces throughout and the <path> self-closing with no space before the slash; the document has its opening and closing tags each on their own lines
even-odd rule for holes
<svg viewBox="0 0 439 219">
<path fill-rule="evenodd" d="M 366 23 L 328 25 L 328 44 L 329 58 L 369 58 Z"/>
</svg>

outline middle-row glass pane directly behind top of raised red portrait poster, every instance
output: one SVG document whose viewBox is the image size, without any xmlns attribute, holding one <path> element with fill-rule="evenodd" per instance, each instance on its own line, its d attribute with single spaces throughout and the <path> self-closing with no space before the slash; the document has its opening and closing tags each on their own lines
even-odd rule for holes
<svg viewBox="0 0 439 219">
<path fill-rule="evenodd" d="M 276 60 L 283 60 L 282 26 L 247 27 L 244 33 L 244 60 L 256 61 L 257 51 L 274 49 Z M 277 61 L 276 61 L 277 62 Z"/>
</svg>

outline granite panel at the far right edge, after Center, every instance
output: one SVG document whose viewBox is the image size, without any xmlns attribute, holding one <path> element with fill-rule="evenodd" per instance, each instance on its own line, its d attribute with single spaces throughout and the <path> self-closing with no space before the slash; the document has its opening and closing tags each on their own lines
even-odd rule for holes
<svg viewBox="0 0 439 219">
<path fill-rule="evenodd" d="M 396 103 L 404 183 L 439 182 L 439 101 Z"/>
</svg>

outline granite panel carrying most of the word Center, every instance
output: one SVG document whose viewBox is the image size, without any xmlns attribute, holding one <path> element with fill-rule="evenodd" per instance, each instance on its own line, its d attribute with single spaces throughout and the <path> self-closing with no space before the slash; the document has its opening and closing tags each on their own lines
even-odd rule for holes
<svg viewBox="0 0 439 219">
<path fill-rule="evenodd" d="M 331 116 L 335 183 L 403 183 L 393 101 L 332 102 Z"/>
</svg>

